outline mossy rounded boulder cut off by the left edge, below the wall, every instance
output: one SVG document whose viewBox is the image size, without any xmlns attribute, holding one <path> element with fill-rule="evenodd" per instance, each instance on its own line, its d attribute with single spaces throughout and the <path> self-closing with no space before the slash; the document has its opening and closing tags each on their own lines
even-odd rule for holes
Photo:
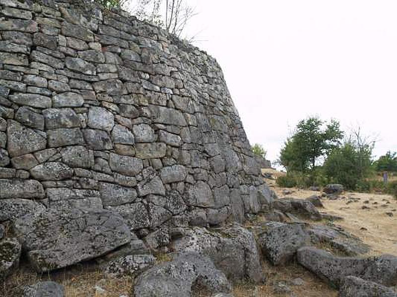
<svg viewBox="0 0 397 297">
<path fill-rule="evenodd" d="M 21 245 L 16 238 L 0 241 L 0 279 L 10 275 L 18 268 Z"/>
</svg>

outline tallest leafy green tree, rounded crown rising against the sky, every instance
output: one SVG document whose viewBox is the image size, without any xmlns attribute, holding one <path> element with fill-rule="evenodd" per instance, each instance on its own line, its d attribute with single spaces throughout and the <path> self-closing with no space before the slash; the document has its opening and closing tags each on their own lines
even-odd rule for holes
<svg viewBox="0 0 397 297">
<path fill-rule="evenodd" d="M 342 138 L 343 132 L 335 120 L 330 123 L 318 117 L 302 120 L 296 126 L 295 133 L 284 143 L 280 163 L 287 171 L 310 173 L 313 177 L 316 162 L 338 147 Z"/>
</svg>

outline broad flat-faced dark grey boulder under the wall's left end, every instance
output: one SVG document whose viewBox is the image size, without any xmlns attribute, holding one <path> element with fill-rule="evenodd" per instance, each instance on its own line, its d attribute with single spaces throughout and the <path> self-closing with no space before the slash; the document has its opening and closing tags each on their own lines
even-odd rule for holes
<svg viewBox="0 0 397 297">
<path fill-rule="evenodd" d="M 98 257 L 131 240 L 126 223 L 109 210 L 49 209 L 20 217 L 13 229 L 38 272 Z"/>
</svg>

